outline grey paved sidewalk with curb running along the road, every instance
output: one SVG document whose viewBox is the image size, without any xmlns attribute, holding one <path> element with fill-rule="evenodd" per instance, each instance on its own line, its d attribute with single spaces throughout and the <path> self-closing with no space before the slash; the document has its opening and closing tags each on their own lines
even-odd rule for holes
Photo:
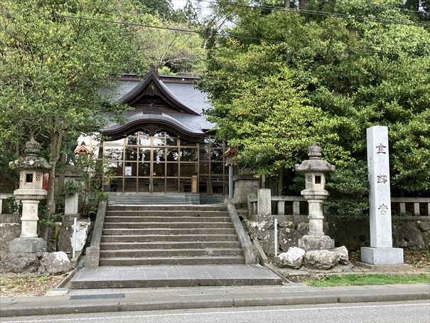
<svg viewBox="0 0 430 323">
<path fill-rule="evenodd" d="M 0 297 L 0 317 L 402 300 L 430 300 L 430 284 L 348 287 L 286 284 L 53 290 L 50 295 L 43 297 Z"/>
</svg>

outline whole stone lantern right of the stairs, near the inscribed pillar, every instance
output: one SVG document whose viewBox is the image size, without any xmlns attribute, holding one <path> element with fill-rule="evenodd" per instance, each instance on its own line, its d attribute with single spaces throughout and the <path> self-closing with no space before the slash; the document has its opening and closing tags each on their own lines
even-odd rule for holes
<svg viewBox="0 0 430 323">
<path fill-rule="evenodd" d="M 335 166 L 321 159 L 321 147 L 316 142 L 308 148 L 308 160 L 296 164 L 296 171 L 305 173 L 306 189 L 301 195 L 308 201 L 309 232 L 299 239 L 299 248 L 305 250 L 333 249 L 334 240 L 323 231 L 323 201 L 327 198 L 325 173 L 335 170 Z"/>
</svg>

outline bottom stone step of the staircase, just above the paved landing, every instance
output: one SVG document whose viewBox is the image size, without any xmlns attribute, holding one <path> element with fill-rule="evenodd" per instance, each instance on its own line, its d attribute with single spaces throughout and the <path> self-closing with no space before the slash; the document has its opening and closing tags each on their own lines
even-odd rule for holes
<svg viewBox="0 0 430 323">
<path fill-rule="evenodd" d="M 242 255 L 200 257 L 100 258 L 101 266 L 244 264 Z"/>
</svg>

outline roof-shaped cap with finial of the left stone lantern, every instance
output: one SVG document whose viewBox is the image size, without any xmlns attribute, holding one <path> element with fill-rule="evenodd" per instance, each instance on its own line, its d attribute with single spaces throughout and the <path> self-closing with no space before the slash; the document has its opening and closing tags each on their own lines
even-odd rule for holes
<svg viewBox="0 0 430 323">
<path fill-rule="evenodd" d="M 18 171 L 25 169 L 48 171 L 52 169 L 52 164 L 48 163 L 43 157 L 38 156 L 41 152 L 40 147 L 41 145 L 31 136 L 30 140 L 26 142 L 25 156 L 16 159 L 14 162 L 9 162 L 9 167 Z"/>
</svg>

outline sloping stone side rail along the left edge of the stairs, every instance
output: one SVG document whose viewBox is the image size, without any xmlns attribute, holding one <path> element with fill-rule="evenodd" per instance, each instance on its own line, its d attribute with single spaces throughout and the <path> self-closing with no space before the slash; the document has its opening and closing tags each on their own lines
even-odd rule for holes
<svg viewBox="0 0 430 323">
<path fill-rule="evenodd" d="M 85 254 L 85 265 L 87 267 L 98 267 L 100 260 L 100 242 L 104 226 L 104 216 L 106 216 L 107 201 L 101 201 L 97 208 L 97 216 L 92 231 L 91 245 L 87 248 Z"/>
</svg>

